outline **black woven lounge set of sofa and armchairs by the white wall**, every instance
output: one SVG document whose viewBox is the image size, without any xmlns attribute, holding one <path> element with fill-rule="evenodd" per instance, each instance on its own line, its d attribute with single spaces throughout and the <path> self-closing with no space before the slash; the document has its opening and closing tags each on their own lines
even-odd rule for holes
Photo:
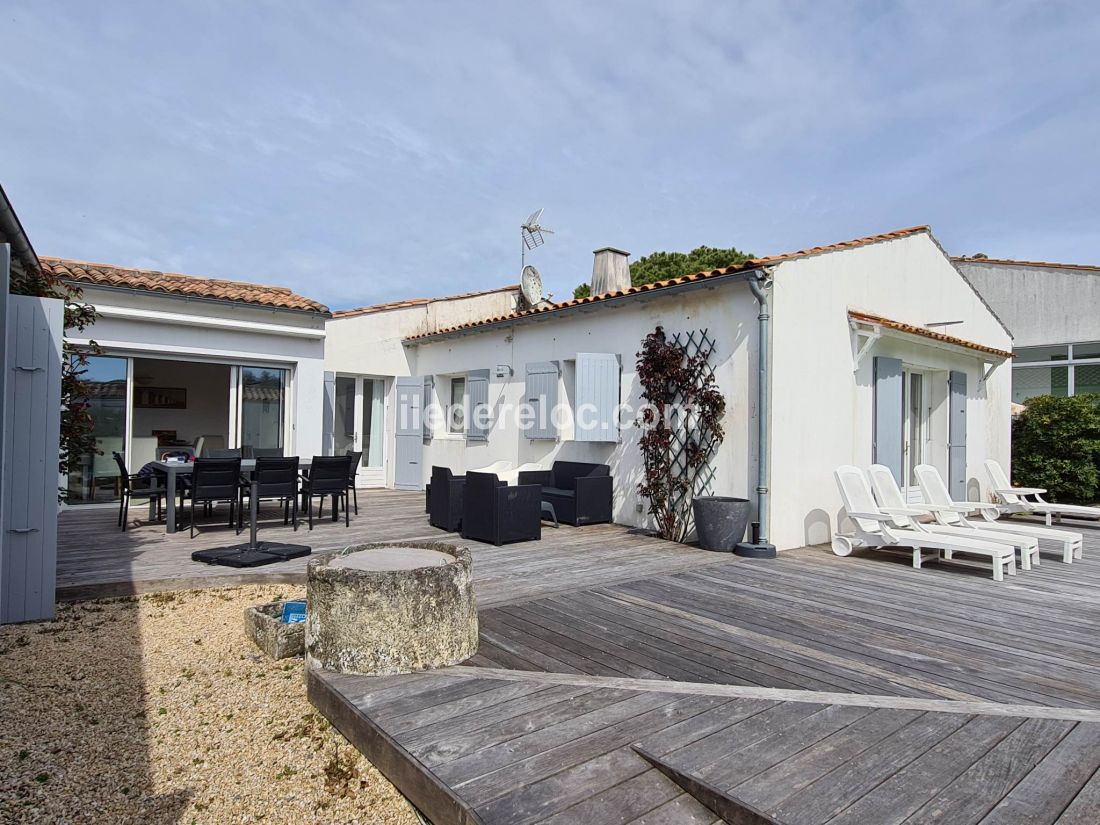
<svg viewBox="0 0 1100 825">
<path fill-rule="evenodd" d="M 499 546 L 541 539 L 543 519 L 554 527 L 609 522 L 613 486 L 606 464 L 578 461 L 549 470 L 497 462 L 465 475 L 433 466 L 425 510 L 432 527 Z"/>
</svg>

